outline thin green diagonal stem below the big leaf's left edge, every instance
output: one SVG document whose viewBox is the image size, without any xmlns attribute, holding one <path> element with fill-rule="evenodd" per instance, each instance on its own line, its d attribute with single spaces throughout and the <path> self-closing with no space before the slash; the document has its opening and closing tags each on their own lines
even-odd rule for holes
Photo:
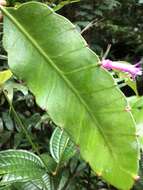
<svg viewBox="0 0 143 190">
<path fill-rule="evenodd" d="M 38 155 L 38 156 L 40 157 L 40 159 L 42 160 L 42 162 L 43 162 L 45 168 L 47 169 L 47 164 L 45 163 L 45 161 L 44 161 L 43 158 L 41 157 L 38 148 L 37 148 L 36 145 L 33 143 L 32 139 L 31 139 L 31 136 L 29 135 L 29 132 L 28 132 L 28 130 L 27 130 L 27 127 L 26 127 L 26 126 L 24 125 L 24 123 L 21 121 L 20 117 L 18 116 L 16 110 L 14 109 L 14 107 L 13 107 L 11 101 L 9 100 L 9 98 L 8 98 L 8 96 L 7 96 L 7 93 L 6 93 L 4 90 L 3 90 L 3 94 L 4 94 L 4 96 L 5 96 L 5 98 L 6 98 L 7 102 L 8 102 L 8 104 L 9 104 L 9 106 L 10 106 L 10 109 L 11 109 L 13 115 L 14 115 L 14 118 L 15 118 L 17 124 L 21 127 L 21 129 L 22 129 L 23 132 L 25 133 L 25 136 L 26 136 L 27 140 L 29 141 L 29 143 L 31 144 L 32 149 L 37 153 L 37 155 Z"/>
</svg>

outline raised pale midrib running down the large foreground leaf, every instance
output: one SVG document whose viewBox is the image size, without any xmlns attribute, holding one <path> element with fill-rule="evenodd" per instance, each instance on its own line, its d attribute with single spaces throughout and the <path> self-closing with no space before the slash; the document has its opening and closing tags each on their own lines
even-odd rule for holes
<svg viewBox="0 0 143 190">
<path fill-rule="evenodd" d="M 46 60 L 46 62 L 50 63 L 50 66 L 53 69 L 55 69 L 55 71 L 57 72 L 57 74 L 64 80 L 64 82 L 67 84 L 67 86 L 71 89 L 71 91 L 79 99 L 79 101 L 85 107 L 85 110 L 88 112 L 89 116 L 91 117 L 93 123 L 95 123 L 95 125 L 97 126 L 97 128 L 98 128 L 101 136 L 103 137 L 104 141 L 107 144 L 107 147 L 108 147 L 109 151 L 111 152 L 113 158 L 117 162 L 118 159 L 116 158 L 116 155 L 112 151 L 112 145 L 109 144 L 108 139 L 106 139 L 106 136 L 104 135 L 102 127 L 100 127 L 100 124 L 97 121 L 96 117 L 94 116 L 94 114 L 92 113 L 92 111 L 90 110 L 90 108 L 88 107 L 88 105 L 85 102 L 85 100 L 80 96 L 80 94 L 78 93 L 77 89 L 74 88 L 74 86 L 72 85 L 72 83 L 63 75 L 63 72 L 54 64 L 54 62 L 52 61 L 52 59 L 45 53 L 45 51 L 39 46 L 39 44 L 33 39 L 33 37 L 31 35 L 29 35 L 29 33 L 23 28 L 23 26 L 7 11 L 8 8 L 4 8 L 4 7 L 0 7 L 0 8 L 1 8 L 2 12 L 13 22 L 13 24 L 15 24 L 17 26 L 17 28 L 22 32 L 22 34 L 31 42 L 31 44 L 37 49 L 37 51 L 42 55 L 42 57 L 44 57 L 44 59 Z M 15 11 L 16 10 L 17 9 L 15 9 Z M 53 12 L 51 14 L 55 14 L 55 13 Z"/>
</svg>

